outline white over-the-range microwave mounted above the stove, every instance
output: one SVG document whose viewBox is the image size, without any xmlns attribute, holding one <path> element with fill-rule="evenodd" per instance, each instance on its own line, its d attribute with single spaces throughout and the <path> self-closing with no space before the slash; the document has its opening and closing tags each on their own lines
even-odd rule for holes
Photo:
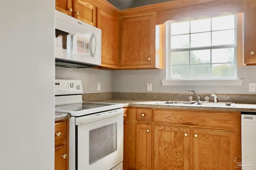
<svg viewBox="0 0 256 170">
<path fill-rule="evenodd" d="M 101 30 L 55 10 L 55 65 L 86 68 L 101 64 Z"/>
</svg>

